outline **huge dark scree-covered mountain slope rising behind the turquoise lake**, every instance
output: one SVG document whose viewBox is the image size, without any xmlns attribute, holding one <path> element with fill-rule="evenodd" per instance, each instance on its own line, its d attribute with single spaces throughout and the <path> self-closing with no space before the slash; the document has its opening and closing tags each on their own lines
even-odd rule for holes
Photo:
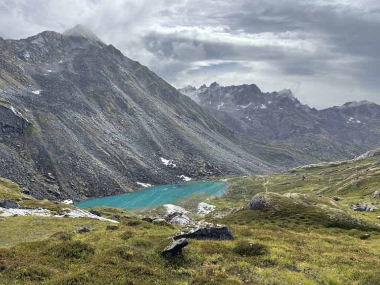
<svg viewBox="0 0 380 285">
<path fill-rule="evenodd" d="M 80 26 L 0 38 L 0 176 L 36 197 L 268 173 L 306 162 L 298 157 L 228 130 Z"/>
</svg>

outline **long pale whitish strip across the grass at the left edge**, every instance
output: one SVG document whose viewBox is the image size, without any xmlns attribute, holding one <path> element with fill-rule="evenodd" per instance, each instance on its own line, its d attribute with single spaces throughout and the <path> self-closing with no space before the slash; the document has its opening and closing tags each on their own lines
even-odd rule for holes
<svg viewBox="0 0 380 285">
<path fill-rule="evenodd" d="M 96 216 L 94 214 L 91 214 L 89 211 L 82 210 L 82 209 L 69 209 L 65 208 L 63 210 L 66 210 L 67 212 L 61 214 L 61 215 L 55 215 L 52 214 L 49 210 L 47 209 L 5 209 L 0 207 L 0 217 L 11 217 L 14 215 L 17 216 L 40 216 L 40 217 L 54 217 L 54 218 L 89 218 L 89 219 L 97 219 L 100 221 L 107 221 L 111 223 L 118 223 L 117 221 L 111 220 L 111 219 L 106 219 L 102 218 L 99 216 Z"/>
</svg>

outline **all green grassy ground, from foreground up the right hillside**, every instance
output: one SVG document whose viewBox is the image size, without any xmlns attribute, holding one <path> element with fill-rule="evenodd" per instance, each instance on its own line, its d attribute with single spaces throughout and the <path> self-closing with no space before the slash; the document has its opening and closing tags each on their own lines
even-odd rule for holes
<svg viewBox="0 0 380 285">
<path fill-rule="evenodd" d="M 115 230 L 83 218 L 0 217 L 0 284 L 377 285 L 379 158 L 230 179 L 226 197 L 207 201 L 216 210 L 206 220 L 228 225 L 234 239 L 190 239 L 179 256 L 161 255 L 178 227 L 122 209 L 97 208 L 118 219 Z M 6 184 L 1 195 L 23 195 Z M 241 210 L 258 193 L 268 206 Z M 349 208 L 362 201 L 374 212 Z M 92 231 L 70 234 L 82 225 Z"/>
</svg>

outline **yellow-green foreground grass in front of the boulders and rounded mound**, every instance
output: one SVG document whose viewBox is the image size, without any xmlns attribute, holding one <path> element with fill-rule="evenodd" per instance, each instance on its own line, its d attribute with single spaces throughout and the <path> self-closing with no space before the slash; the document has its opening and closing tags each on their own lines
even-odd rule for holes
<svg viewBox="0 0 380 285">
<path fill-rule="evenodd" d="M 252 220 L 242 213 L 237 214 Z M 123 222 L 117 230 L 106 230 L 107 223 L 97 220 L 4 218 L 1 229 L 12 230 L 0 240 L 10 239 L 17 244 L 0 248 L 0 284 L 380 282 L 378 236 L 361 240 L 345 230 L 333 234 L 296 233 L 271 223 L 239 225 L 224 221 L 234 233 L 234 240 L 191 239 L 183 255 L 164 257 L 161 251 L 171 242 L 167 237 L 177 229 L 147 222 L 129 226 Z M 93 231 L 71 236 L 70 232 L 81 225 L 91 226 Z M 60 235 L 53 235 L 55 232 L 65 232 L 67 238 L 59 239 Z M 241 244 L 249 242 L 262 245 L 265 250 L 253 256 L 247 250 L 244 256 Z"/>
</svg>

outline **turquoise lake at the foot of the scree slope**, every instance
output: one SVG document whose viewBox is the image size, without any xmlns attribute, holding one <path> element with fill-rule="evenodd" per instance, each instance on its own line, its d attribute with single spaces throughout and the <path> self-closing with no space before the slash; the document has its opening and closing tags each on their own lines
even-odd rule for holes
<svg viewBox="0 0 380 285">
<path fill-rule="evenodd" d="M 163 204 L 174 204 L 193 195 L 221 196 L 226 189 L 224 182 L 194 182 L 172 185 L 160 185 L 137 192 L 115 196 L 89 199 L 75 204 L 80 208 L 95 206 L 112 206 L 126 210 L 134 208 L 157 207 Z"/>
</svg>

